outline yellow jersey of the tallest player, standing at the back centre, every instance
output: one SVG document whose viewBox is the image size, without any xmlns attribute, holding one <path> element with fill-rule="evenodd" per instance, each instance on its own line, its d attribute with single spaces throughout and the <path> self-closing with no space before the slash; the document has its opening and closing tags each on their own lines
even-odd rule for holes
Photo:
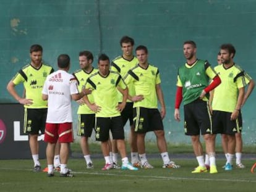
<svg viewBox="0 0 256 192">
<path fill-rule="evenodd" d="M 127 74 L 127 72 L 132 69 L 133 67 L 135 67 L 136 65 L 138 65 L 138 59 L 137 57 L 133 57 L 132 60 L 127 60 L 124 59 L 124 57 L 119 56 L 116 57 L 112 62 L 111 62 L 111 70 L 113 70 L 114 72 L 118 72 L 120 73 L 121 77 L 124 78 Z M 128 90 L 129 90 L 129 94 L 130 95 L 134 95 L 134 87 L 132 86 L 132 84 L 127 85 L 128 86 Z M 119 102 L 122 102 L 122 94 L 119 92 Z M 129 99 L 127 99 L 127 102 L 132 102 Z"/>
</svg>

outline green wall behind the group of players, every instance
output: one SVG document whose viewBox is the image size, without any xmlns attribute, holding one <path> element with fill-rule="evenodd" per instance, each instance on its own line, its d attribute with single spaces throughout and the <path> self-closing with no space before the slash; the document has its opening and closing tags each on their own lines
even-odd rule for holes
<svg viewBox="0 0 256 192">
<path fill-rule="evenodd" d="M 56 69 L 56 57 L 67 53 L 70 72 L 79 69 L 78 53 L 88 49 L 97 57 L 105 52 L 121 54 L 119 39 L 132 36 L 135 46 L 149 49 L 150 63 L 157 65 L 167 106 L 166 139 L 190 143 L 182 123 L 174 121 L 177 67 L 184 63 L 182 43 L 194 40 L 197 56 L 216 65 L 222 43 L 233 43 L 235 61 L 256 80 L 256 1 L 221 0 L 2 0 L 0 6 L 0 102 L 15 102 L 6 91 L 7 82 L 29 62 L 31 44 L 41 44 L 44 60 Z M 96 66 L 96 62 L 94 62 Z M 20 93 L 22 86 L 18 86 Z M 256 141 L 255 93 L 244 106 L 244 143 Z M 74 120 L 77 105 L 74 103 Z M 183 118 L 183 115 L 182 115 Z M 128 128 L 126 129 L 128 131 Z M 155 140 L 148 134 L 148 140 Z"/>
</svg>

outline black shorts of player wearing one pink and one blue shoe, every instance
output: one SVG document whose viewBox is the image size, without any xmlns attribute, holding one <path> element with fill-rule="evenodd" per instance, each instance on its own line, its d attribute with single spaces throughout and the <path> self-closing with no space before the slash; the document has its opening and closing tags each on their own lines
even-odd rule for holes
<svg viewBox="0 0 256 192">
<path fill-rule="evenodd" d="M 113 140 L 124 140 L 124 126 L 122 117 L 96 117 L 95 122 L 96 141 L 108 141 L 109 130 L 111 130 Z"/>
</svg>

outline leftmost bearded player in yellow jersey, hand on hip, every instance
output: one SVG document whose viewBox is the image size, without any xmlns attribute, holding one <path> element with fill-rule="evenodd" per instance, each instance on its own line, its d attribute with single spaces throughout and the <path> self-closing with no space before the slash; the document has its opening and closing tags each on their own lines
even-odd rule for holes
<svg viewBox="0 0 256 192">
<path fill-rule="evenodd" d="M 38 135 L 45 133 L 47 101 L 41 99 L 41 91 L 47 75 L 53 73 L 53 67 L 43 64 L 43 48 L 39 44 L 30 47 L 30 64 L 25 65 L 7 85 L 9 93 L 24 106 L 24 133 L 28 134 L 30 151 L 34 162 L 34 171 L 39 172 Z M 23 83 L 25 98 L 15 90 L 15 86 Z"/>
</svg>

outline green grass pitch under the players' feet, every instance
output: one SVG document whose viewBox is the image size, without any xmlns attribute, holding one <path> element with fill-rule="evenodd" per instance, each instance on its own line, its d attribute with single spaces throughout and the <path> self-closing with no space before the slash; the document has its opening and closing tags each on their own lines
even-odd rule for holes
<svg viewBox="0 0 256 192">
<path fill-rule="evenodd" d="M 255 191 L 256 173 L 250 173 L 252 159 L 244 159 L 245 169 L 225 171 L 224 159 L 217 159 L 218 173 L 191 173 L 196 160 L 173 159 L 180 169 L 163 169 L 161 157 L 148 158 L 154 169 L 102 171 L 103 158 L 93 159 L 95 169 L 85 169 L 82 158 L 69 159 L 73 178 L 34 173 L 32 160 L 0 160 L 0 191 Z M 46 160 L 41 160 L 42 168 Z"/>
</svg>

